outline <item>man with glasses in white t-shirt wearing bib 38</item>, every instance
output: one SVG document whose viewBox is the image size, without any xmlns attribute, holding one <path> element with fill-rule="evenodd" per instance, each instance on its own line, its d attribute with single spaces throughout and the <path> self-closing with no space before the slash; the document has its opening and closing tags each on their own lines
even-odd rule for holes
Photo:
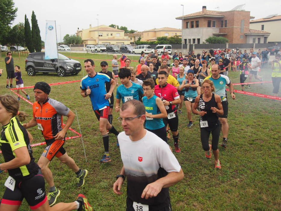
<svg viewBox="0 0 281 211">
<path fill-rule="evenodd" d="M 183 179 L 180 167 L 169 145 L 143 128 L 145 106 L 138 100 L 122 105 L 120 118 L 124 132 L 118 136 L 123 167 L 113 185 L 121 195 L 127 177 L 128 211 L 171 210 L 169 187 Z"/>
</svg>

